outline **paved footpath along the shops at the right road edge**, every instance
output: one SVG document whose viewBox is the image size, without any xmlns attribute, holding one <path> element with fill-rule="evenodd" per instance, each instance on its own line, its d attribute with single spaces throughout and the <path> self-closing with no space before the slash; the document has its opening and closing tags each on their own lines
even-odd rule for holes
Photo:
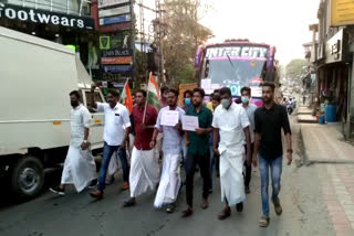
<svg viewBox="0 0 354 236">
<path fill-rule="evenodd" d="M 354 147 L 334 125 L 301 125 L 309 163 L 315 165 L 334 233 L 354 235 Z"/>
</svg>

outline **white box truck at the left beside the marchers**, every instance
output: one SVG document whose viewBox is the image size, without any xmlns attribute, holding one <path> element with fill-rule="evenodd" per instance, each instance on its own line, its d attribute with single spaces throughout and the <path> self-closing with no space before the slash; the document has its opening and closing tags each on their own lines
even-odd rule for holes
<svg viewBox="0 0 354 236">
<path fill-rule="evenodd" d="M 44 170 L 63 162 L 70 143 L 70 97 L 90 103 L 92 81 L 73 50 L 0 26 L 0 176 L 15 196 L 37 196 Z M 102 93 L 95 99 L 104 101 Z M 104 115 L 92 110 L 90 142 L 103 147 Z"/>
</svg>

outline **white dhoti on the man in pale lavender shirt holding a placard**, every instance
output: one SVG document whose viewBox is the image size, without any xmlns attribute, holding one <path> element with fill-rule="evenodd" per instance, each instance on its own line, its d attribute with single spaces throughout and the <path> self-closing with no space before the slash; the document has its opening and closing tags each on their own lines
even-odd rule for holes
<svg viewBox="0 0 354 236">
<path fill-rule="evenodd" d="M 154 202 L 154 206 L 157 208 L 177 200 L 180 187 L 179 161 L 180 154 L 164 153 L 163 174 Z"/>
</svg>

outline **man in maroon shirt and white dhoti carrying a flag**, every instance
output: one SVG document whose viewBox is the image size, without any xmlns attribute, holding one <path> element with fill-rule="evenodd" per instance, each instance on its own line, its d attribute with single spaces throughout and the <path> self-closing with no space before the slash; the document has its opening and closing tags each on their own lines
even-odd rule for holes
<svg viewBox="0 0 354 236">
<path fill-rule="evenodd" d="M 158 183 L 159 167 L 155 151 L 150 147 L 157 109 L 146 104 L 146 90 L 135 93 L 136 106 L 133 109 L 135 141 L 131 161 L 131 197 L 124 202 L 124 207 L 134 206 L 135 197 L 154 190 Z"/>
</svg>

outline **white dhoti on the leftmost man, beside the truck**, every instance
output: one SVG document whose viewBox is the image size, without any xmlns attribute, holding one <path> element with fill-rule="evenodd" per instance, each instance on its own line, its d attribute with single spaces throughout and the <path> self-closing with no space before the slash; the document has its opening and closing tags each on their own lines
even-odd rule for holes
<svg viewBox="0 0 354 236">
<path fill-rule="evenodd" d="M 62 184 L 73 184 L 77 192 L 96 179 L 96 164 L 90 150 L 70 146 L 62 173 Z"/>
</svg>

